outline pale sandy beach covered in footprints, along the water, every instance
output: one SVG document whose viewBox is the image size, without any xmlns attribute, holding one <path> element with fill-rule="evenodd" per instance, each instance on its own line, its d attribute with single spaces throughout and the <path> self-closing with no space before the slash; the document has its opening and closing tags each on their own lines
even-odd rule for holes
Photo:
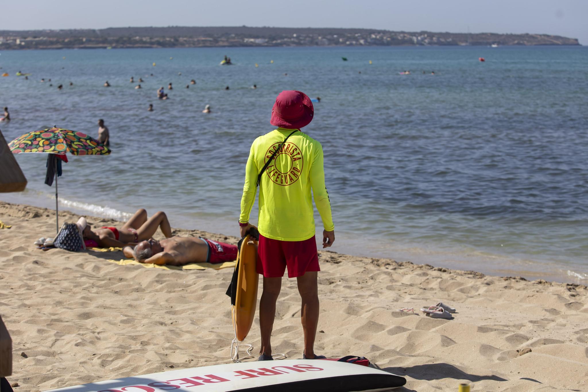
<svg viewBox="0 0 588 392">
<path fill-rule="evenodd" d="M 54 211 L 0 202 L 0 220 L 12 225 L 0 229 L 0 314 L 13 340 L 8 380 L 19 384 L 15 391 L 229 363 L 233 330 L 225 290 L 232 269 L 146 269 L 106 261 L 121 259 L 121 252 L 43 252 L 33 242 L 55 234 Z M 60 212 L 60 223 L 76 220 Z M 174 233 L 237 242 L 198 230 Z M 464 382 L 474 391 L 588 390 L 586 286 L 393 257 L 319 252 L 317 353 L 368 357 L 405 376 L 403 391 L 456 391 Z M 456 307 L 453 320 L 420 312 L 439 301 Z M 416 314 L 397 311 L 404 307 Z M 299 310 L 296 282 L 285 280 L 275 353 L 302 357 Z M 257 318 L 246 343 L 259 349 Z"/>
</svg>

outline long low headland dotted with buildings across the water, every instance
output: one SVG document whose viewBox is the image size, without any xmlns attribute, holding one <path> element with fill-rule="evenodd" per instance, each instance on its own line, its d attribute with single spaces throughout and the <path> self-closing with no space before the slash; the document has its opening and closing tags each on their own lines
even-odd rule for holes
<svg viewBox="0 0 588 392">
<path fill-rule="evenodd" d="M 580 45 L 547 34 L 405 32 L 346 28 L 120 27 L 0 30 L 0 49 L 196 48 L 206 46 Z"/>
</svg>

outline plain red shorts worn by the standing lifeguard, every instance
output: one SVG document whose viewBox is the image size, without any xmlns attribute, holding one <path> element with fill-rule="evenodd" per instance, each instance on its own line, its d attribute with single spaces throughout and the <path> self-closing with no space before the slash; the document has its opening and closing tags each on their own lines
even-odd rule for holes
<svg viewBox="0 0 588 392">
<path fill-rule="evenodd" d="M 259 234 L 257 272 L 265 277 L 288 277 L 320 271 L 315 236 L 304 241 L 280 241 Z"/>
</svg>

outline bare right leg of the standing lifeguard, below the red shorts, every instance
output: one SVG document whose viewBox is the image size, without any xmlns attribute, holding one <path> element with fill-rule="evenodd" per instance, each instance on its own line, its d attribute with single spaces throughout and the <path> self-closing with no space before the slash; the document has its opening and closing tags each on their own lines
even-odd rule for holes
<svg viewBox="0 0 588 392">
<path fill-rule="evenodd" d="M 319 323 L 319 294 L 318 273 L 306 272 L 296 278 L 298 280 L 298 292 L 302 298 L 300 321 L 304 331 L 304 354 L 308 359 L 315 357 L 316 326 Z"/>
</svg>

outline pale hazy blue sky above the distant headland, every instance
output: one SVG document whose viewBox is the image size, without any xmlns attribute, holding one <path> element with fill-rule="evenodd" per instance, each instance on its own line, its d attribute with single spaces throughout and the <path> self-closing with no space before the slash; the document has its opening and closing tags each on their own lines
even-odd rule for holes
<svg viewBox="0 0 588 392">
<path fill-rule="evenodd" d="M 123 26 L 355 27 L 547 33 L 588 44 L 588 0 L 4 1 L 0 29 Z"/>
</svg>

